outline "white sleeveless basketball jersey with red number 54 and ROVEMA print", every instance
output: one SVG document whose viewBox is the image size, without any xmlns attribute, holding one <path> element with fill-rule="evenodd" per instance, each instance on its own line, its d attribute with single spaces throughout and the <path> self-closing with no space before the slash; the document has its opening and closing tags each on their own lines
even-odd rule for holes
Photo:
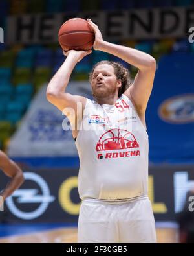
<svg viewBox="0 0 194 256">
<path fill-rule="evenodd" d="M 147 194 L 148 135 L 129 98 L 87 99 L 76 139 L 80 198 L 117 200 Z"/>
</svg>

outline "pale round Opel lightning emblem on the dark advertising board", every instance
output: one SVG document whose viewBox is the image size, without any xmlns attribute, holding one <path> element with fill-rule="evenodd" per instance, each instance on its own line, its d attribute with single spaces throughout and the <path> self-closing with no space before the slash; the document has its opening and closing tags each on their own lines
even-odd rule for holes
<svg viewBox="0 0 194 256">
<path fill-rule="evenodd" d="M 47 185 L 47 182 L 38 174 L 33 172 L 24 173 L 25 180 L 34 181 L 41 191 L 39 194 L 39 189 L 17 189 L 17 191 L 12 194 L 9 198 L 6 199 L 6 205 L 11 213 L 18 218 L 23 220 L 32 220 L 38 218 L 47 210 L 48 205 L 55 200 L 54 196 L 50 195 L 50 190 Z M 19 204 L 38 204 L 38 207 L 34 211 L 21 211 L 16 206 L 14 198 L 17 198 L 15 201 L 17 205 Z"/>
</svg>

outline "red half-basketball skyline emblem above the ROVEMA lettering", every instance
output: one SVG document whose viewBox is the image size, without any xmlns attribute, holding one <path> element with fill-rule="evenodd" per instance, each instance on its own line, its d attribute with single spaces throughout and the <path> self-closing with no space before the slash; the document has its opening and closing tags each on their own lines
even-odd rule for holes
<svg viewBox="0 0 194 256">
<path fill-rule="evenodd" d="M 105 132 L 96 144 L 96 151 L 138 148 L 135 136 L 122 129 L 111 129 Z"/>
</svg>

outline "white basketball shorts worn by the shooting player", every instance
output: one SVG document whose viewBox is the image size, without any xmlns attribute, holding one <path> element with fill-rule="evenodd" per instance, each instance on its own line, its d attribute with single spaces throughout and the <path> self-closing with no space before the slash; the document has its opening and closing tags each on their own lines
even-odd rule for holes
<svg viewBox="0 0 194 256">
<path fill-rule="evenodd" d="M 78 242 L 156 242 L 149 198 L 141 196 L 111 202 L 84 199 L 78 220 Z"/>
</svg>

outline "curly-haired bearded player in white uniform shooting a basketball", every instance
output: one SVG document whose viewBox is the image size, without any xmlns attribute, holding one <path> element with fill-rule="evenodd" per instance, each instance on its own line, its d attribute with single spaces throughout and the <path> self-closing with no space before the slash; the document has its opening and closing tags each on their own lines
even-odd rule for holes
<svg viewBox="0 0 194 256">
<path fill-rule="evenodd" d="M 137 67 L 138 73 L 129 86 L 127 69 L 102 61 L 90 75 L 95 100 L 70 95 L 65 89 L 75 65 L 92 52 L 71 50 L 65 52 L 65 62 L 48 84 L 48 101 L 76 127 L 72 135 L 80 157 L 78 192 L 82 200 L 78 242 L 156 242 L 147 197 L 145 121 L 156 62 L 149 54 L 104 41 L 98 26 L 87 21 L 95 32 L 94 50 L 121 58 Z M 78 104 L 83 111 L 77 110 Z M 67 108 L 74 110 L 75 117 Z M 79 128 L 83 121 L 90 129 Z"/>
</svg>

